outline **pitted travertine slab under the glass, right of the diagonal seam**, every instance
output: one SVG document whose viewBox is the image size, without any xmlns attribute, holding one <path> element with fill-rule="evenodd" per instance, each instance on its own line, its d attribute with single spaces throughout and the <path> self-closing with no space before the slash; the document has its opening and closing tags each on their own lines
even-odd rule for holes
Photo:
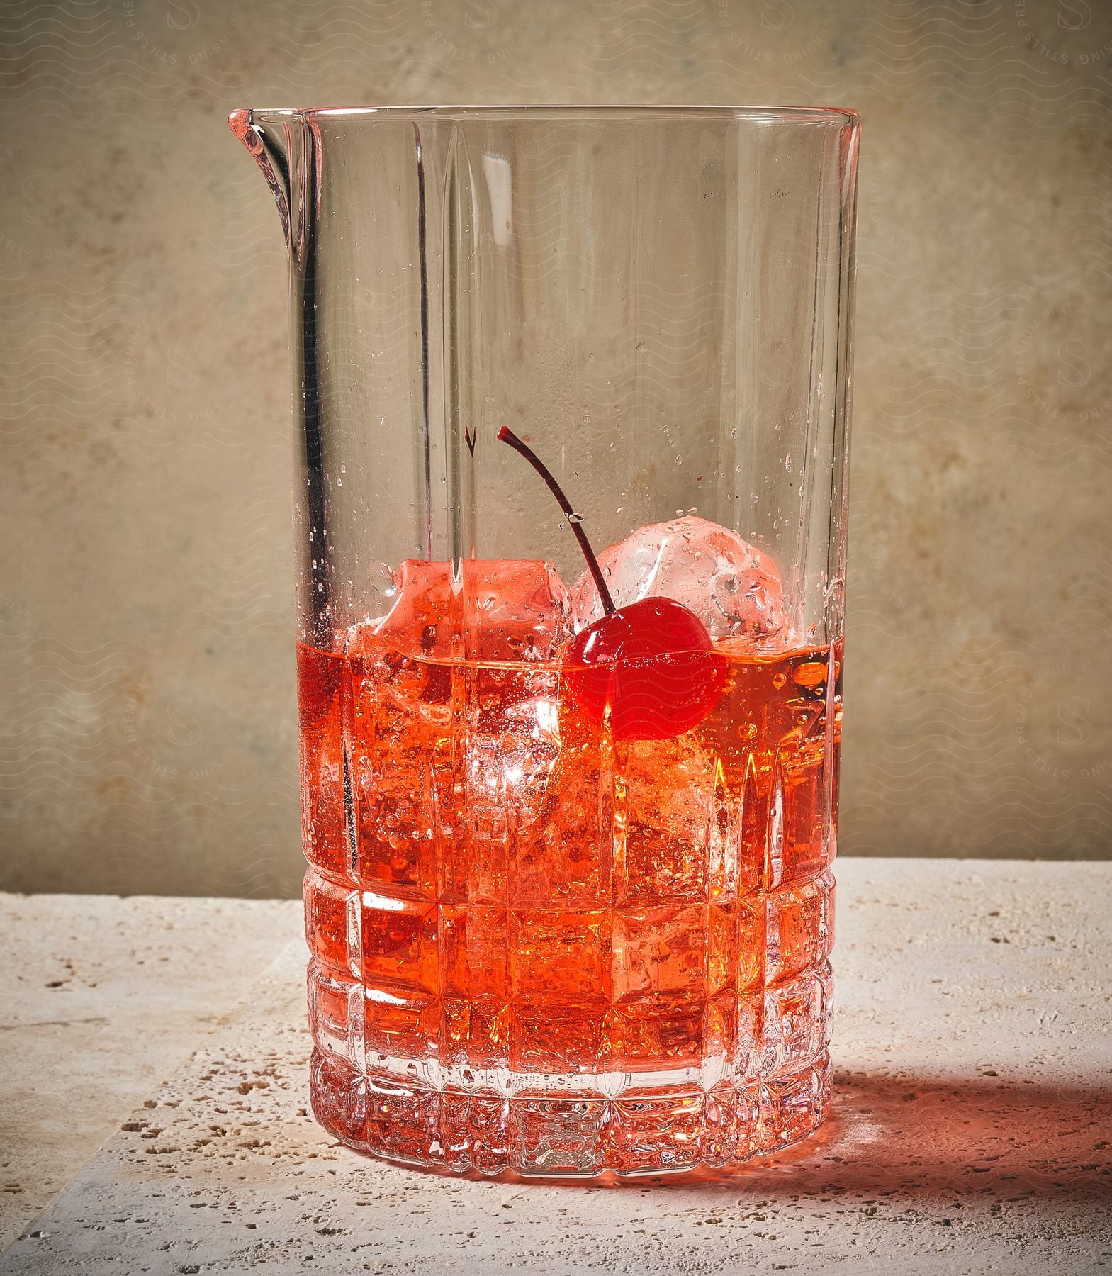
<svg viewBox="0 0 1112 1276">
<path fill-rule="evenodd" d="M 834 1116 L 791 1154 L 618 1188 L 362 1159 L 307 1115 L 291 935 L 0 1272 L 1112 1267 L 1112 865 L 851 860 L 838 874 Z M 97 905 L 107 925 L 126 902 Z M 172 998 L 148 1013 L 157 1034 Z"/>
</svg>

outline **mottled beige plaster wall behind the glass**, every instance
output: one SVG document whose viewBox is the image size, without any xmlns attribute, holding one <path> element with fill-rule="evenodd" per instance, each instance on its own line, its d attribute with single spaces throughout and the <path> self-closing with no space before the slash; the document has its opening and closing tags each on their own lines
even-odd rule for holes
<svg viewBox="0 0 1112 1276">
<path fill-rule="evenodd" d="M 19 889 L 297 888 L 284 259 L 233 106 L 865 120 L 843 852 L 1112 849 L 1112 10 L 0 13 L 0 837 Z"/>
</svg>

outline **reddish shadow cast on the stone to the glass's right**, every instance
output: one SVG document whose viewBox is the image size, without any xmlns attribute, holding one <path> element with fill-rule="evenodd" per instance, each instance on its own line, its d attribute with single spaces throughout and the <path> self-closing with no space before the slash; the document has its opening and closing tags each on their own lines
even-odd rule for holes
<svg viewBox="0 0 1112 1276">
<path fill-rule="evenodd" d="M 976 1081 L 844 1073 L 823 1131 L 732 1182 L 778 1194 L 1112 1203 L 1112 1078 L 1046 1086 L 991 1073 Z"/>
</svg>

